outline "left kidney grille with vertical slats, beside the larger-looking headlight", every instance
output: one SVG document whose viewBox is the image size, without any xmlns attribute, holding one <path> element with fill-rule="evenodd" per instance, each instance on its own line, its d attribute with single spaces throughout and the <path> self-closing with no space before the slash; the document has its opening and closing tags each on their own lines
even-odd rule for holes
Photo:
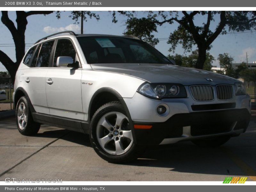
<svg viewBox="0 0 256 192">
<path fill-rule="evenodd" d="M 197 101 L 213 100 L 213 90 L 210 85 L 193 85 L 189 87 L 192 97 Z"/>
</svg>

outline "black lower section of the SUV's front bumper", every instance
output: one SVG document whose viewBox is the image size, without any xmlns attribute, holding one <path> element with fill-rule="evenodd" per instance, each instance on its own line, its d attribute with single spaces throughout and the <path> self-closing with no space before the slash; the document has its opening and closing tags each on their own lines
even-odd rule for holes
<svg viewBox="0 0 256 192">
<path fill-rule="evenodd" d="M 151 129 L 134 129 L 138 145 L 158 145 L 218 135 L 236 136 L 245 132 L 250 113 L 247 109 L 176 114 L 163 123 L 133 122 L 152 125 Z"/>
</svg>

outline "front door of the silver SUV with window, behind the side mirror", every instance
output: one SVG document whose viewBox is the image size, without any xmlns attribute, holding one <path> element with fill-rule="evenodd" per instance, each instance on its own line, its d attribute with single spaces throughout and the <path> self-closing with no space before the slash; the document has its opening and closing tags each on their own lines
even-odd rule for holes
<svg viewBox="0 0 256 192">
<path fill-rule="evenodd" d="M 57 40 L 53 54 L 53 67 L 46 75 L 46 98 L 50 115 L 84 120 L 81 94 L 82 68 L 57 67 L 60 56 L 78 61 L 76 49 L 68 38 Z"/>
</svg>

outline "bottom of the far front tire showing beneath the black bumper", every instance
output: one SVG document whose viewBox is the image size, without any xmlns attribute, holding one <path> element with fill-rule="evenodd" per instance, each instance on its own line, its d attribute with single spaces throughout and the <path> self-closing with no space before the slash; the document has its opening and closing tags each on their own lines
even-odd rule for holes
<svg viewBox="0 0 256 192">
<path fill-rule="evenodd" d="M 230 135 L 223 135 L 207 139 L 192 140 L 191 142 L 199 147 L 219 147 L 226 143 L 230 138 Z"/>
</svg>

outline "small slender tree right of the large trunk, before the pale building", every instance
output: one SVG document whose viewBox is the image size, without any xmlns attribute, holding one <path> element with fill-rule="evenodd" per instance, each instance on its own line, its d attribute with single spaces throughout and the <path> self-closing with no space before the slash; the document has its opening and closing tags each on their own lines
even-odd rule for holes
<svg viewBox="0 0 256 192">
<path fill-rule="evenodd" d="M 220 68 L 223 68 L 226 72 L 225 75 L 237 78 L 235 69 L 232 67 L 232 61 L 234 59 L 228 53 L 219 54 L 218 60 L 220 62 Z"/>
</svg>

